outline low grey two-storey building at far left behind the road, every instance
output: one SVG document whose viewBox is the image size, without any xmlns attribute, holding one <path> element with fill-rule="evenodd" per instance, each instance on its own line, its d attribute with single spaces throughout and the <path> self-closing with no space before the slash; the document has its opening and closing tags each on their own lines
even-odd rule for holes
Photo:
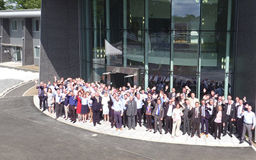
<svg viewBox="0 0 256 160">
<path fill-rule="evenodd" d="M 0 63 L 39 65 L 41 10 L 0 11 Z"/>
</svg>

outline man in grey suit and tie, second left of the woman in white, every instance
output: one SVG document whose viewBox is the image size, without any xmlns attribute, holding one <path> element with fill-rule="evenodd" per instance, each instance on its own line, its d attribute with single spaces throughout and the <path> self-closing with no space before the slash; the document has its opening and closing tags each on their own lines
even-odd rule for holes
<svg viewBox="0 0 256 160">
<path fill-rule="evenodd" d="M 154 133 L 156 133 L 158 129 L 158 123 L 159 123 L 159 132 L 160 134 L 162 134 L 162 120 L 164 115 L 165 115 L 165 109 L 161 104 L 161 100 L 158 99 L 156 102 L 156 106 L 154 107 L 154 111 L 152 112 L 152 116 L 154 116 Z"/>
</svg>

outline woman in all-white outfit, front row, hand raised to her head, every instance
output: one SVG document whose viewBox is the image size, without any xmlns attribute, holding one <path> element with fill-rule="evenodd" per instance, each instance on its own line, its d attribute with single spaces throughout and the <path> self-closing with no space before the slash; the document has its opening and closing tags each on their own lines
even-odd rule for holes
<svg viewBox="0 0 256 160">
<path fill-rule="evenodd" d="M 181 108 L 180 108 L 181 106 Z M 185 107 L 182 102 L 176 104 L 176 108 L 172 111 L 172 138 L 179 136 L 179 127 L 181 126 L 181 116 L 183 116 L 183 110 Z"/>
</svg>

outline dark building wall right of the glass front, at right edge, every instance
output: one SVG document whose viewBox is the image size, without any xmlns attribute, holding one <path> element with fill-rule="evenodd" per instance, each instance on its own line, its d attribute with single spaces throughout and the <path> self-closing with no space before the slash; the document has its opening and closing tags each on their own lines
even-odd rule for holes
<svg viewBox="0 0 256 160">
<path fill-rule="evenodd" d="M 255 111 L 256 100 L 256 1 L 239 1 L 235 95 L 246 96 Z M 254 141 L 256 140 L 254 134 Z"/>
</svg>

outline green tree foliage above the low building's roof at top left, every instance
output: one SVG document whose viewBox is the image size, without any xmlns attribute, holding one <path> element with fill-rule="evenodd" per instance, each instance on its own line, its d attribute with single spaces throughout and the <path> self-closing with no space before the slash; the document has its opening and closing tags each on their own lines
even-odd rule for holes
<svg viewBox="0 0 256 160">
<path fill-rule="evenodd" d="M 41 8 L 41 0 L 7 0 L 5 6 L 9 10 Z"/>
</svg>

